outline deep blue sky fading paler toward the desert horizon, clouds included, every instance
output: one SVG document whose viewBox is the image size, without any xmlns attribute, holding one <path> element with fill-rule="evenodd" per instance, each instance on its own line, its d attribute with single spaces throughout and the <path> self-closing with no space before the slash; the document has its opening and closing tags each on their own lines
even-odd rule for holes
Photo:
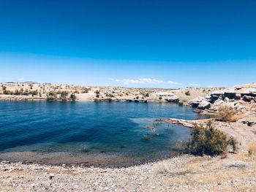
<svg viewBox="0 0 256 192">
<path fill-rule="evenodd" d="M 0 82 L 256 81 L 254 0 L 0 0 Z"/>
</svg>

